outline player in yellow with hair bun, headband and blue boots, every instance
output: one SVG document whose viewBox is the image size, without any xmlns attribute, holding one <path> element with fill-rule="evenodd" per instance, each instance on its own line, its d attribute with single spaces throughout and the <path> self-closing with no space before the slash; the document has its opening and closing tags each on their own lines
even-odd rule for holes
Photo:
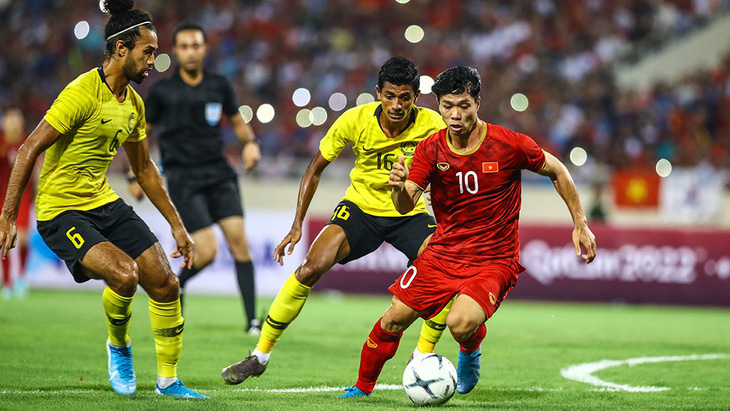
<svg viewBox="0 0 730 411">
<path fill-rule="evenodd" d="M 3 258 L 15 245 L 20 197 L 36 159 L 46 152 L 36 214 L 46 244 L 66 261 L 76 282 L 101 279 L 109 339 L 109 381 L 119 394 L 136 391 L 129 337 L 137 285 L 149 295 L 160 395 L 207 398 L 177 379 L 184 320 L 179 286 L 149 227 L 109 186 L 106 172 L 120 146 L 152 203 L 167 219 L 177 242 L 173 257 L 193 263 L 194 244 L 150 160 L 144 104 L 129 85 L 152 70 L 157 34 L 149 14 L 132 0 L 105 0 L 106 59 L 59 94 L 38 127 L 18 150 L 0 215 Z"/>
</svg>

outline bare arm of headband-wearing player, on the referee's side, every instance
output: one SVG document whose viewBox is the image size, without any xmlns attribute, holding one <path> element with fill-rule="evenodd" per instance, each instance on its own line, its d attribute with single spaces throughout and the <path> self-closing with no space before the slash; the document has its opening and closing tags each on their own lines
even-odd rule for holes
<svg viewBox="0 0 730 411">
<path fill-rule="evenodd" d="M 175 238 L 177 248 L 170 256 L 173 258 L 183 257 L 183 263 L 180 265 L 180 268 L 192 268 L 195 243 L 190 238 L 180 218 L 180 214 L 178 214 L 177 209 L 172 204 L 172 200 L 170 200 L 170 195 L 162 184 L 160 171 L 150 158 L 147 140 L 139 142 L 127 141 L 124 143 L 124 151 L 127 152 L 129 166 L 132 173 L 137 177 L 140 187 L 142 187 L 142 190 L 147 194 L 147 198 L 150 199 L 152 204 L 155 205 L 172 228 L 172 236 Z"/>
</svg>

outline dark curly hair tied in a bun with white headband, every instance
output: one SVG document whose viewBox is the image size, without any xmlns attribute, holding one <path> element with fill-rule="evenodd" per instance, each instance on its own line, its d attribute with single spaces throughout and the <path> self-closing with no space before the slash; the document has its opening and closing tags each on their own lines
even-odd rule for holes
<svg viewBox="0 0 730 411">
<path fill-rule="evenodd" d="M 143 10 L 133 10 L 133 7 L 134 0 L 104 0 L 102 8 L 110 15 L 109 21 L 104 27 L 104 38 L 106 39 L 104 54 L 107 57 L 114 55 L 115 44 L 118 40 L 122 40 L 126 48 L 134 49 L 135 40 L 140 36 L 140 27 L 155 31 L 152 16 Z M 149 23 L 137 26 L 144 22 Z M 134 28 L 130 29 L 130 27 Z"/>
</svg>

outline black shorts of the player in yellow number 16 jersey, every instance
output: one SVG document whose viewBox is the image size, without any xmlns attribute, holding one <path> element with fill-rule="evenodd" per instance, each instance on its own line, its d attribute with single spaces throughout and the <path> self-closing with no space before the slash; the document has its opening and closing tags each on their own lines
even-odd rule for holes
<svg viewBox="0 0 730 411">
<path fill-rule="evenodd" d="M 340 264 L 368 255 L 387 242 L 405 254 L 408 265 L 411 265 L 418 257 L 423 241 L 436 231 L 436 220 L 428 213 L 408 217 L 376 217 L 366 214 L 347 200 L 337 205 L 327 224 L 342 227 L 350 243 L 350 254 Z"/>
</svg>

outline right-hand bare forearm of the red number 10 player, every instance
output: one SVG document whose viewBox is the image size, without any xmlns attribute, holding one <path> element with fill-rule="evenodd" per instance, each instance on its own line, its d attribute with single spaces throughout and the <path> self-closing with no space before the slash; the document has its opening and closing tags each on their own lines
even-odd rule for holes
<svg viewBox="0 0 730 411">
<path fill-rule="evenodd" d="M 573 218 L 573 245 L 575 246 L 575 254 L 580 255 L 590 264 L 596 258 L 596 236 L 593 235 L 591 229 L 588 228 L 588 221 L 583 206 L 580 204 L 578 190 L 575 188 L 573 178 L 565 165 L 547 151 L 545 153 L 545 165 L 539 171 L 540 174 L 550 177 L 555 186 L 555 190 L 565 201 L 565 205 L 570 210 L 570 216 Z M 585 248 L 585 254 L 581 255 L 580 246 Z"/>
</svg>

